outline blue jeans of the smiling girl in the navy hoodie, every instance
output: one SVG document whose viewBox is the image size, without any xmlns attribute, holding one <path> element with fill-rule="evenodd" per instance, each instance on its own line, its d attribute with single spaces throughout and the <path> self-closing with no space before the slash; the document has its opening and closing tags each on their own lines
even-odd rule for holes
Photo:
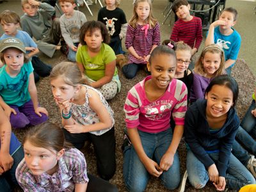
<svg viewBox="0 0 256 192">
<path fill-rule="evenodd" d="M 219 154 L 209 154 L 214 162 L 218 161 Z M 188 179 L 192 186 L 197 189 L 204 188 L 209 180 L 209 175 L 204 164 L 199 161 L 191 150 L 187 154 Z M 241 162 L 230 154 L 227 175 L 226 188 L 239 190 L 247 184 L 255 184 L 253 175 L 241 164 Z"/>
</svg>

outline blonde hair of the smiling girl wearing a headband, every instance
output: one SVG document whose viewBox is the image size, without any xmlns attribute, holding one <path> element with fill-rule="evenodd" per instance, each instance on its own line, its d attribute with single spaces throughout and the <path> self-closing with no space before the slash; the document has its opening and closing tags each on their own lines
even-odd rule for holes
<svg viewBox="0 0 256 192">
<path fill-rule="evenodd" d="M 203 49 L 202 53 L 200 54 L 200 57 L 198 58 L 198 61 L 196 61 L 194 72 L 202 76 L 206 76 L 206 73 L 204 71 L 204 63 L 202 63 L 202 58 L 204 58 L 206 52 L 211 52 L 212 54 L 218 53 L 221 58 L 220 67 L 218 68 L 218 70 L 216 70 L 216 72 L 214 72 L 213 77 L 226 74 L 225 54 L 223 49 L 221 49 L 221 47 L 216 44 L 211 44 Z"/>
</svg>

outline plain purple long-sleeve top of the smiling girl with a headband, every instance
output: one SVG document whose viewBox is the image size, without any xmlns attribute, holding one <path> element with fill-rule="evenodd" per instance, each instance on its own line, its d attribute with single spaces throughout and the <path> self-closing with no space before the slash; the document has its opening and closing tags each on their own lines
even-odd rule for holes
<svg viewBox="0 0 256 192">
<path fill-rule="evenodd" d="M 190 100 L 195 101 L 196 99 L 204 99 L 205 90 L 211 80 L 211 78 L 204 77 L 193 72 L 193 84 L 190 90 Z"/>
</svg>

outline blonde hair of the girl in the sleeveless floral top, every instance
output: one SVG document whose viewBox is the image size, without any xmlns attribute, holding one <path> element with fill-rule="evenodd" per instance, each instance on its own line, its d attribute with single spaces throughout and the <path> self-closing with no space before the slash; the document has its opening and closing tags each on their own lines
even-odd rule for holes
<svg viewBox="0 0 256 192">
<path fill-rule="evenodd" d="M 64 82 L 70 86 L 77 86 L 79 84 L 88 84 L 86 77 L 84 77 L 75 63 L 61 62 L 52 68 L 50 79 L 62 77 Z"/>
</svg>

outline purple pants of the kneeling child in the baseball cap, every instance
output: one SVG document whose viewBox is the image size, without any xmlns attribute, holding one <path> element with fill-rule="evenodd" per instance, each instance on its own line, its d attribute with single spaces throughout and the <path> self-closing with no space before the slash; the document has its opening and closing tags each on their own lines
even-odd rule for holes
<svg viewBox="0 0 256 192">
<path fill-rule="evenodd" d="M 10 123 L 14 129 L 20 129 L 26 127 L 26 125 L 38 125 L 48 119 L 48 116 L 44 113 L 41 113 L 42 116 L 35 113 L 32 100 L 20 107 L 10 105 L 10 108 L 13 108 L 17 113 L 16 115 L 13 113 L 10 115 Z"/>
</svg>

